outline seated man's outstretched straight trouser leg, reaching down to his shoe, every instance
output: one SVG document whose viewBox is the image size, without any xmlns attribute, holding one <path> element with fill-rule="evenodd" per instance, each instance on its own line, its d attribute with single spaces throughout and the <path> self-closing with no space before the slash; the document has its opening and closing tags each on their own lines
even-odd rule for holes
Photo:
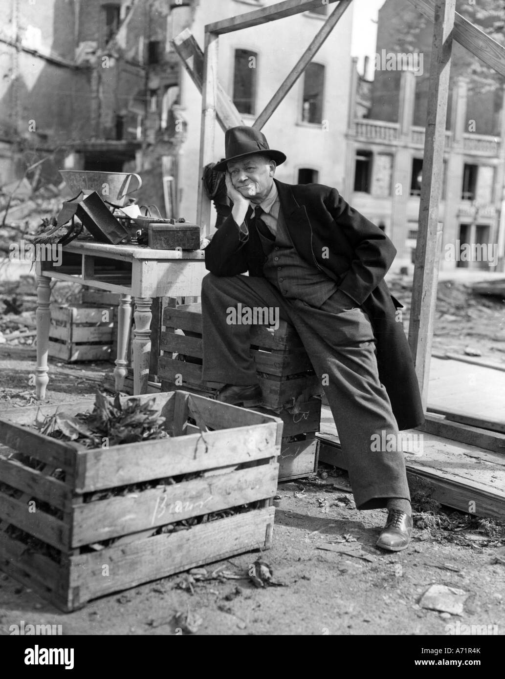
<svg viewBox="0 0 505 679">
<path fill-rule="evenodd" d="M 294 301 L 290 316 L 327 394 L 356 506 L 375 509 L 387 498 L 410 499 L 403 453 L 382 445 L 391 441 L 388 435 L 398 441 L 398 426 L 379 380 L 368 316 L 360 308 L 338 308 L 332 297 L 320 309 Z"/>
</svg>

